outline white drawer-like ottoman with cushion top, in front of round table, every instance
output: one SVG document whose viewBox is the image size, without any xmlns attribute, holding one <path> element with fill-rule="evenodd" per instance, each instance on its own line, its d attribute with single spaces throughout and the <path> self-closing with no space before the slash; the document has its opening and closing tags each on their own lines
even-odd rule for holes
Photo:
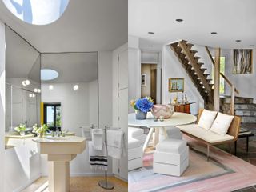
<svg viewBox="0 0 256 192">
<path fill-rule="evenodd" d="M 189 147 L 182 139 L 166 138 L 154 150 L 153 170 L 156 174 L 181 176 L 189 165 Z"/>
</svg>

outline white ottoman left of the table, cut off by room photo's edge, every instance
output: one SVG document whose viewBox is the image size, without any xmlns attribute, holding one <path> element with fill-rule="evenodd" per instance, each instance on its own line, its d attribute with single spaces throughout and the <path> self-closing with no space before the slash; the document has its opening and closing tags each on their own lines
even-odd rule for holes
<svg viewBox="0 0 256 192">
<path fill-rule="evenodd" d="M 135 170 L 143 166 L 143 144 L 146 134 L 142 129 L 128 127 L 128 170 Z"/>
</svg>

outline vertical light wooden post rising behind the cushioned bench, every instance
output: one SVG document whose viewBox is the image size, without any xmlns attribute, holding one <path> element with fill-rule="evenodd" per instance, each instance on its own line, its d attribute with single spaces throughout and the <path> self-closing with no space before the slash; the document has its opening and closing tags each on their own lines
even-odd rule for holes
<svg viewBox="0 0 256 192">
<path fill-rule="evenodd" d="M 214 110 L 219 111 L 219 78 L 220 78 L 221 49 L 215 48 L 214 65 Z"/>
</svg>

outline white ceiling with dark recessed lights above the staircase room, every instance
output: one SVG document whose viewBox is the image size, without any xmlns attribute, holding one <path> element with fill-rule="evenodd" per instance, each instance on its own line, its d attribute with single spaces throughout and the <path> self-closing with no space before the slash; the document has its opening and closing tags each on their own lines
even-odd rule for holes
<svg viewBox="0 0 256 192">
<path fill-rule="evenodd" d="M 178 39 L 226 49 L 256 45 L 255 0 L 129 0 L 128 7 L 128 34 L 139 37 L 145 50 Z"/>
</svg>

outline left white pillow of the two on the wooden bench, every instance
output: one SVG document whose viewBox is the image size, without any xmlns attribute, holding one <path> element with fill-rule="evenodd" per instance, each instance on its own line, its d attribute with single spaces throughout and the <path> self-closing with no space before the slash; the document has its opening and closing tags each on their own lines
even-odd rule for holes
<svg viewBox="0 0 256 192">
<path fill-rule="evenodd" d="M 210 127 L 214 123 L 214 119 L 216 118 L 217 113 L 217 111 L 203 110 L 198 122 L 198 126 L 201 126 L 206 130 L 210 130 Z"/>
</svg>

